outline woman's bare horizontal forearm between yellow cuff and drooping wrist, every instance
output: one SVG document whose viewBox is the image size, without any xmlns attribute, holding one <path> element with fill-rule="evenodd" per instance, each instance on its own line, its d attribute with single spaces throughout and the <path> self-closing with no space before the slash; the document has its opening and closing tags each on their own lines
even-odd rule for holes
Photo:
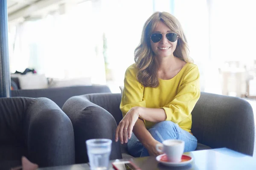
<svg viewBox="0 0 256 170">
<path fill-rule="evenodd" d="M 138 107 L 139 115 L 149 122 L 162 122 L 166 120 L 166 113 L 162 108 Z"/>
</svg>

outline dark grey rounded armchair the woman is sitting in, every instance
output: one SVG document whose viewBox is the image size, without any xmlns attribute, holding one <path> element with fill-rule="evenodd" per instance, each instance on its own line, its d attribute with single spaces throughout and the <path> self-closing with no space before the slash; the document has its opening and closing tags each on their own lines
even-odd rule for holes
<svg viewBox="0 0 256 170">
<path fill-rule="evenodd" d="M 65 102 L 62 110 L 74 127 L 76 163 L 88 161 L 85 140 L 114 139 L 116 123 L 122 119 L 120 101 L 121 94 L 105 93 L 73 96 Z M 227 147 L 252 156 L 252 107 L 240 98 L 201 92 L 192 111 L 192 133 L 198 139 L 197 150 Z M 113 140 L 112 148 L 111 159 L 129 157 L 125 144 L 120 147 Z"/>
</svg>

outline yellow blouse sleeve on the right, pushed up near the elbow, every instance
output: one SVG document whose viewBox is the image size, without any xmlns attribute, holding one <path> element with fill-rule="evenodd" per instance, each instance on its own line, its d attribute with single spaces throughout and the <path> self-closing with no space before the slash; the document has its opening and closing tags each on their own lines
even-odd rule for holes
<svg viewBox="0 0 256 170">
<path fill-rule="evenodd" d="M 200 74 L 198 67 L 191 68 L 181 80 L 177 95 L 164 107 L 166 120 L 178 123 L 187 118 L 200 97 Z"/>
</svg>

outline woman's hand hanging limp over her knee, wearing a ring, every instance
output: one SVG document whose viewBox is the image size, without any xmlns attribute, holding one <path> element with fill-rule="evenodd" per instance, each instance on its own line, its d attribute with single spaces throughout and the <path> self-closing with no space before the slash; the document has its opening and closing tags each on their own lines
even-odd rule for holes
<svg viewBox="0 0 256 170">
<path fill-rule="evenodd" d="M 120 139 L 121 144 L 127 143 L 131 138 L 134 124 L 139 118 L 140 107 L 133 107 L 126 113 L 119 125 L 116 127 L 116 142 Z"/>
</svg>

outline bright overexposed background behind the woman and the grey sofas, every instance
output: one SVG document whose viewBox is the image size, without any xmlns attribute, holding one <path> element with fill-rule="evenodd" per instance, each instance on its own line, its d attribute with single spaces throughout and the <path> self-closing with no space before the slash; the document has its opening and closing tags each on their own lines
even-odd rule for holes
<svg viewBox="0 0 256 170">
<path fill-rule="evenodd" d="M 7 0 L 11 77 L 18 88 L 108 85 L 119 93 L 154 11 L 180 21 L 201 91 L 256 98 L 253 0 Z M 17 73 L 38 75 L 28 81 Z M 16 74 L 15 74 L 16 72 Z M 35 77 L 33 77 L 35 78 Z M 39 84 L 47 79 L 47 84 Z M 26 85 L 29 82 L 29 85 Z"/>
</svg>

